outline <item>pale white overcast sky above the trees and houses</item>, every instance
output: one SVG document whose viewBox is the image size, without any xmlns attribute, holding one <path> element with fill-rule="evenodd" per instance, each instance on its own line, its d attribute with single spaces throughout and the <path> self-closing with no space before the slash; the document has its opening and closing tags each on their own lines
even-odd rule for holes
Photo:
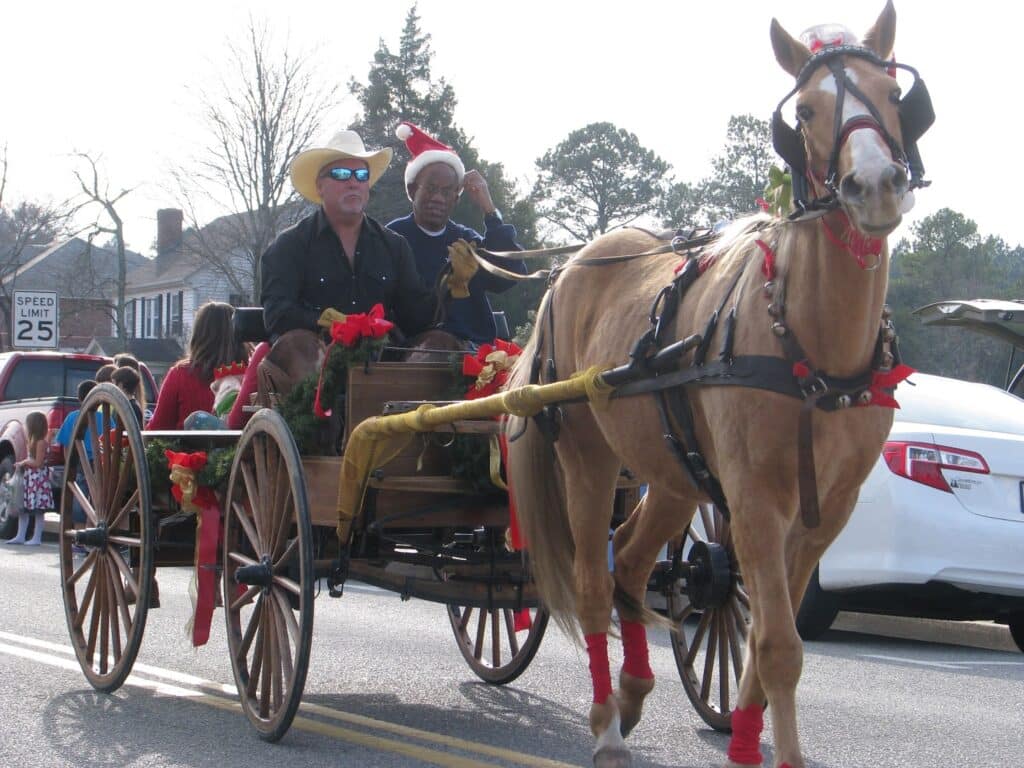
<svg viewBox="0 0 1024 768">
<path fill-rule="evenodd" d="M 324 82 L 342 85 L 333 123 L 357 112 L 350 77 L 365 80 L 383 39 L 396 51 L 409 0 L 359 3 L 17 2 L 0 29 L 0 144 L 8 203 L 75 191 L 75 151 L 101 155 L 111 189 L 137 186 L 119 206 L 128 246 L 152 253 L 156 211 L 174 162 L 199 154 L 197 90 L 217 76 L 225 42 L 250 14 L 281 40 L 313 51 Z M 707 175 L 729 117 L 769 119 L 790 89 L 768 38 L 774 15 L 792 34 L 837 22 L 860 35 L 883 3 L 834 0 L 575 0 L 512 3 L 420 0 L 433 75 L 459 98 L 456 119 L 481 156 L 525 190 L 534 163 L 571 130 L 610 121 L 673 166 Z M 603 9 L 602 9 L 603 8 Z M 933 185 L 910 221 L 948 207 L 984 234 L 1024 243 L 1022 89 L 1016 3 L 896 2 L 896 54 L 928 82 L 938 114 L 920 147 Z M 792 117 L 792 102 L 787 117 Z M 397 169 L 391 172 L 397 172 Z M 907 233 L 906 226 L 897 236 Z"/>
</svg>

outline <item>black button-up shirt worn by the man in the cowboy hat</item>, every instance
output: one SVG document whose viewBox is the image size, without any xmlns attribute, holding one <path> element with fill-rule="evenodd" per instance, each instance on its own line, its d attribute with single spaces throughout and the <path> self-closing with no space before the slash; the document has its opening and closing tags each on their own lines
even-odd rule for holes
<svg viewBox="0 0 1024 768">
<path fill-rule="evenodd" d="M 353 269 L 322 208 L 279 234 L 260 265 L 260 302 L 271 337 L 317 330 L 328 307 L 349 314 L 383 304 L 407 336 L 433 324 L 437 300 L 400 234 L 364 216 L 354 263 Z"/>
</svg>

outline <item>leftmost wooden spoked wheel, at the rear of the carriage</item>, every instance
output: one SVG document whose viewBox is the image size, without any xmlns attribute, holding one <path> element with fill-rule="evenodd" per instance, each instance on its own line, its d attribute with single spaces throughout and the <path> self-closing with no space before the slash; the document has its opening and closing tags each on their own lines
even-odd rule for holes
<svg viewBox="0 0 1024 768">
<path fill-rule="evenodd" d="M 76 528 L 74 502 L 85 513 Z M 154 523 L 142 434 L 113 384 L 86 397 L 60 495 L 60 584 L 72 646 L 96 690 L 124 683 L 138 655 L 153 584 Z"/>
</svg>

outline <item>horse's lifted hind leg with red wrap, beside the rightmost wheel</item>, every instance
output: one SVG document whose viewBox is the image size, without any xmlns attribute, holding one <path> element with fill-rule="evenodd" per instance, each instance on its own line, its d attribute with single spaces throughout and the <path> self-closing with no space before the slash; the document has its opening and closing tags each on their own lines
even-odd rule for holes
<svg viewBox="0 0 1024 768">
<path fill-rule="evenodd" d="M 681 506 L 678 499 L 664 495 L 655 486 L 615 530 L 615 609 L 623 637 L 623 669 L 618 673 L 615 698 L 624 736 L 640 722 L 644 698 L 654 689 L 643 624 L 644 596 L 657 553 L 686 523 L 680 518 L 680 509 L 686 509 L 685 504 Z"/>
</svg>

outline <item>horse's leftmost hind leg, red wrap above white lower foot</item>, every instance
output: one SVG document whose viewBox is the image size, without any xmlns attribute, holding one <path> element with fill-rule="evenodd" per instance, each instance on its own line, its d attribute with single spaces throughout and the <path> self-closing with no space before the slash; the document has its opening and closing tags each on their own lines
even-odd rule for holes
<svg viewBox="0 0 1024 768">
<path fill-rule="evenodd" d="M 608 662 L 607 632 L 611 623 L 613 584 L 608 572 L 608 525 L 611 521 L 614 483 L 618 462 L 609 453 L 594 456 L 600 444 L 599 433 L 589 432 L 587 420 L 570 414 L 572 437 L 591 447 L 586 462 L 582 454 L 563 451 L 571 438 L 563 434 L 557 443 L 564 468 L 565 498 L 568 506 L 572 541 L 575 545 L 573 580 L 577 616 L 583 630 L 590 662 L 594 699 L 590 709 L 590 728 L 594 734 L 595 768 L 627 768 L 632 765 L 629 749 L 621 732 L 618 703 L 612 695 Z"/>
</svg>

